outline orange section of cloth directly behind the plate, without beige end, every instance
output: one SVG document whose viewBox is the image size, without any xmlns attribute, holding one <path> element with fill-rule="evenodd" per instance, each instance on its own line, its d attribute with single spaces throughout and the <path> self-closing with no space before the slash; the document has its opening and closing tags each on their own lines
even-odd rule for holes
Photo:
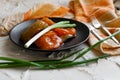
<svg viewBox="0 0 120 80">
<path fill-rule="evenodd" d="M 64 6 L 44 4 L 36 5 L 24 15 L 24 20 L 30 20 L 42 17 L 64 17 L 69 8 Z"/>
</svg>

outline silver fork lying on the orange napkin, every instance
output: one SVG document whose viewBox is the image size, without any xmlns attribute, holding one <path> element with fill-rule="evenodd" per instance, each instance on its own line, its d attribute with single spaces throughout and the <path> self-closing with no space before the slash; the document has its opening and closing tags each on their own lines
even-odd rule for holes
<svg viewBox="0 0 120 80">
<path fill-rule="evenodd" d="M 91 20 L 92 20 L 92 25 L 93 25 L 96 29 L 98 29 L 98 28 L 101 27 L 109 36 L 112 35 L 112 34 L 108 31 L 108 29 L 105 28 L 105 26 L 102 25 L 102 24 L 97 20 L 97 18 L 92 17 Z M 112 39 L 116 44 L 120 45 L 119 41 L 118 41 L 115 37 L 111 37 L 111 39 Z"/>
</svg>

